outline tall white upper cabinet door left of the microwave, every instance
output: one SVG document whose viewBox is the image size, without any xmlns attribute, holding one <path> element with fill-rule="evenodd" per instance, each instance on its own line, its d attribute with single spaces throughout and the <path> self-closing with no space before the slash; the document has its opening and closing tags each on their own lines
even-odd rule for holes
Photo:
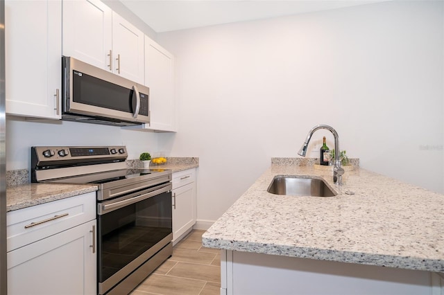
<svg viewBox="0 0 444 295">
<path fill-rule="evenodd" d="M 62 3 L 5 1 L 6 113 L 61 118 Z"/>
</svg>

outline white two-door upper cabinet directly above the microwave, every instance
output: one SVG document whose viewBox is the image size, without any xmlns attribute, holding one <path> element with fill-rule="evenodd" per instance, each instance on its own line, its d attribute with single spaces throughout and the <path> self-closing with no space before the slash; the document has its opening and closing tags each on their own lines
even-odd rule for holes
<svg viewBox="0 0 444 295">
<path fill-rule="evenodd" d="M 98 0 L 63 1 L 63 55 L 144 84 L 144 34 Z"/>
</svg>

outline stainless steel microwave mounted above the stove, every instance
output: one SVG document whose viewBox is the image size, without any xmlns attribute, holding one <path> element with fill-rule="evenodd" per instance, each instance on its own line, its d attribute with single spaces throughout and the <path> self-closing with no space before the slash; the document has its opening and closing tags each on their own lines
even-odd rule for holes
<svg viewBox="0 0 444 295">
<path fill-rule="evenodd" d="M 62 57 L 62 120 L 150 123 L 149 88 L 73 57 Z"/>
</svg>

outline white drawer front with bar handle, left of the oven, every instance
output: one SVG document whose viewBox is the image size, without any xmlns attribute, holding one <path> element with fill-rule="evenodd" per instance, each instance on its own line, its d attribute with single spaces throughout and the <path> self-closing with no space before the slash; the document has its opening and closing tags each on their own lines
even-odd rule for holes
<svg viewBox="0 0 444 295">
<path fill-rule="evenodd" d="M 95 192 L 10 211 L 6 214 L 7 251 L 95 219 Z"/>
</svg>

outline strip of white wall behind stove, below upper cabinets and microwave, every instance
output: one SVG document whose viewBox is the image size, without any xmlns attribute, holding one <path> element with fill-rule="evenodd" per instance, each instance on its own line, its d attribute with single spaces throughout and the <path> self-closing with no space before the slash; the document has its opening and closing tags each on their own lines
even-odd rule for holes
<svg viewBox="0 0 444 295">
<path fill-rule="evenodd" d="M 116 126 L 55 121 L 37 123 L 23 120 L 6 122 L 6 170 L 31 170 L 31 147 L 41 145 L 126 145 L 128 159 L 141 152 L 159 152 L 157 134 Z"/>
</svg>

